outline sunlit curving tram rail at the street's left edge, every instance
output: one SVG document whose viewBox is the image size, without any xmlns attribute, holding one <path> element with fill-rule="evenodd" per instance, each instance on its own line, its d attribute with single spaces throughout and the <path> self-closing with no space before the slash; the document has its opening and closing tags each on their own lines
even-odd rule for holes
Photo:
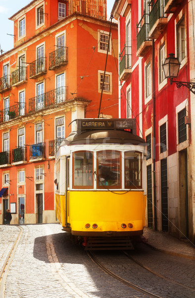
<svg viewBox="0 0 195 298">
<path fill-rule="evenodd" d="M 17 227 L 20 229 L 19 234 L 17 235 L 0 271 L 0 298 L 4 297 L 4 285 L 6 281 L 6 276 L 7 276 L 10 264 L 12 262 L 13 256 L 15 254 L 16 248 L 20 242 L 20 239 L 23 233 L 23 228 L 21 226 L 17 226 Z"/>
</svg>

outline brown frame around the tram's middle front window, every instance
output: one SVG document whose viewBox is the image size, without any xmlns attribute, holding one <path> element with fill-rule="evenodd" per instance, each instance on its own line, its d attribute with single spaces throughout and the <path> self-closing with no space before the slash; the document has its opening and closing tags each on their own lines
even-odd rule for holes
<svg viewBox="0 0 195 298">
<path fill-rule="evenodd" d="M 99 183 L 99 158 L 98 158 L 98 155 L 99 153 L 101 152 L 104 152 L 104 154 L 106 152 L 117 152 L 119 153 L 120 155 L 120 164 L 119 164 L 119 173 L 120 173 L 120 178 L 119 178 L 119 184 L 116 184 L 116 185 L 109 185 L 109 183 L 106 185 L 103 185 Z M 107 181 L 106 181 L 107 182 Z M 119 150 L 100 150 L 100 151 L 97 151 L 97 189 L 122 189 L 122 154 L 121 154 L 121 151 Z"/>
</svg>

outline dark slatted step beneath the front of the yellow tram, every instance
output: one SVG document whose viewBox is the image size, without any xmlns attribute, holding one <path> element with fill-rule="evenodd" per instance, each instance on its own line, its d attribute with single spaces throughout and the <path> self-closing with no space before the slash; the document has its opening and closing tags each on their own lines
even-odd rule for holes
<svg viewBox="0 0 195 298">
<path fill-rule="evenodd" d="M 85 250 L 134 249 L 130 237 L 90 237 Z"/>
</svg>

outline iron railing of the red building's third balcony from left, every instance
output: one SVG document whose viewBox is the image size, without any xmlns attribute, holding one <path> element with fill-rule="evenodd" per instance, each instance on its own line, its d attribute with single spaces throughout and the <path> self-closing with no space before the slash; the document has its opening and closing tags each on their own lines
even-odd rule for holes
<svg viewBox="0 0 195 298">
<path fill-rule="evenodd" d="M 164 0 L 156 0 L 155 3 L 150 1 L 149 5 L 152 5 L 151 11 L 149 12 L 149 30 L 151 30 L 157 19 L 165 17 Z"/>
</svg>

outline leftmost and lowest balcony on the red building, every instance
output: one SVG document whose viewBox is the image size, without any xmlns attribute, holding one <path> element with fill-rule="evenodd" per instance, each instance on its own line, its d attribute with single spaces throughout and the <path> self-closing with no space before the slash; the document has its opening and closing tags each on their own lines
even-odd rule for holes
<svg viewBox="0 0 195 298">
<path fill-rule="evenodd" d="M 121 54 L 119 55 L 120 80 L 127 80 L 131 72 L 131 47 L 124 46 Z"/>
</svg>

